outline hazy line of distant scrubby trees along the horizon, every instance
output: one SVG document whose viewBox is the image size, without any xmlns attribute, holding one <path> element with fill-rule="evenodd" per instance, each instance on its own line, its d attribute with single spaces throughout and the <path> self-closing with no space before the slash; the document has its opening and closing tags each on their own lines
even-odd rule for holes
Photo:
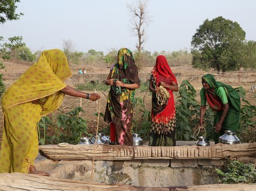
<svg viewBox="0 0 256 191">
<path fill-rule="evenodd" d="M 83 66 L 112 66 L 117 62 L 117 49 L 112 48 L 110 52 L 104 55 L 103 51 L 96 51 L 94 49 L 88 50 L 88 52 L 80 51 L 68 51 L 63 48 L 64 53 L 71 64 L 83 65 Z M 12 49 L 2 54 L 4 59 L 17 59 L 22 61 L 34 62 L 41 55 L 41 51 L 32 53 L 26 46 Z M 192 55 L 188 50 L 179 50 L 174 52 L 161 51 L 151 53 L 146 50 L 141 50 L 139 53 L 137 50 L 133 52 L 135 62 L 139 69 L 144 66 L 154 66 L 156 57 L 158 55 L 165 55 L 170 66 L 189 65 L 192 61 Z"/>
</svg>

